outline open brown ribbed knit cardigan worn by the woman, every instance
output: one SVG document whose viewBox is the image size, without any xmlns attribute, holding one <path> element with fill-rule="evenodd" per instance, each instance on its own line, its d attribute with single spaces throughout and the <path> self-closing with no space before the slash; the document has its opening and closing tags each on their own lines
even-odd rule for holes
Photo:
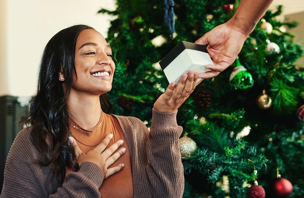
<svg viewBox="0 0 304 198">
<path fill-rule="evenodd" d="M 183 197 L 184 169 L 178 145 L 183 129 L 177 125 L 176 114 L 153 110 L 150 131 L 138 118 L 115 115 L 130 150 L 134 198 Z M 50 165 L 37 164 L 30 130 L 20 131 L 9 151 L 0 198 L 100 198 L 103 172 L 98 165 L 83 163 L 60 185 Z"/>
</svg>

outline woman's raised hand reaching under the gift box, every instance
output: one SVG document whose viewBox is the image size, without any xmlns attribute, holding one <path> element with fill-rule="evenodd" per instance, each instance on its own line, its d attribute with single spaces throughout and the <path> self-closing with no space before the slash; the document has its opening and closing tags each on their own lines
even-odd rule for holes
<svg viewBox="0 0 304 198">
<path fill-rule="evenodd" d="M 175 112 L 190 96 L 197 85 L 198 73 L 188 71 L 183 74 L 179 82 L 171 82 L 163 93 L 154 103 L 153 109 L 158 112 Z"/>
</svg>

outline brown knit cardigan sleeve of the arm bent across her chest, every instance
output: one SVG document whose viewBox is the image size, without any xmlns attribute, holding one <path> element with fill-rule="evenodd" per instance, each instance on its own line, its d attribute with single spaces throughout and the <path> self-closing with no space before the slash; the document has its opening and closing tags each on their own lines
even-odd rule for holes
<svg viewBox="0 0 304 198">
<path fill-rule="evenodd" d="M 38 152 L 30 139 L 30 130 L 17 134 L 9 151 L 0 198 L 99 198 L 103 172 L 98 165 L 85 162 L 78 172 L 69 173 L 60 186 L 50 165 L 37 163 Z"/>
</svg>

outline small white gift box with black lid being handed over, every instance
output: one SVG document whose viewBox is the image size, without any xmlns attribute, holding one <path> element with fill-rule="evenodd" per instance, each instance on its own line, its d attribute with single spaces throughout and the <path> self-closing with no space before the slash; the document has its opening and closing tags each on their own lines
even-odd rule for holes
<svg viewBox="0 0 304 198">
<path fill-rule="evenodd" d="M 189 70 L 198 73 L 210 71 L 205 68 L 209 64 L 214 65 L 206 47 L 187 41 L 180 42 L 159 62 L 169 83 L 177 83 Z"/>
</svg>

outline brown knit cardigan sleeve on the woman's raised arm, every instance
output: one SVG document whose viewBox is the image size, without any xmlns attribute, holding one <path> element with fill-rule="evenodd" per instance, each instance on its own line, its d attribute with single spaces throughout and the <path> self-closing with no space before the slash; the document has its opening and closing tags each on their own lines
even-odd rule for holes
<svg viewBox="0 0 304 198">
<path fill-rule="evenodd" d="M 178 141 L 183 128 L 177 125 L 177 112 L 152 111 L 147 143 L 147 171 L 152 185 L 152 197 L 182 198 L 185 180 Z"/>
</svg>

